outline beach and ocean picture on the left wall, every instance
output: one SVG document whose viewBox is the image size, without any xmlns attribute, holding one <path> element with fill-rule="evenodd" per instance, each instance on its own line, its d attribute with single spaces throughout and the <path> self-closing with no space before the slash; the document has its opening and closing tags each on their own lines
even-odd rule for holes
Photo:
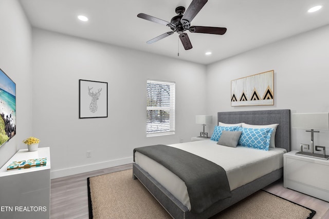
<svg viewBox="0 0 329 219">
<path fill-rule="evenodd" d="M 0 147 L 16 134 L 16 84 L 0 69 Z"/>
</svg>

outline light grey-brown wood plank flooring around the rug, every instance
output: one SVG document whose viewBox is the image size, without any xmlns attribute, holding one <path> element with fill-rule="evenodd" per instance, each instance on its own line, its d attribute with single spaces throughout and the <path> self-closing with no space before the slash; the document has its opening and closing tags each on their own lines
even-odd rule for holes
<svg viewBox="0 0 329 219">
<path fill-rule="evenodd" d="M 87 177 L 96 176 L 126 169 L 131 169 L 132 164 L 112 167 L 93 172 L 87 172 L 51 180 L 50 190 L 50 218 L 88 218 Z M 311 208 L 317 213 L 313 219 L 329 218 L 329 203 L 319 200 L 294 190 L 283 187 L 279 180 L 264 188 L 264 190 L 286 198 L 302 206 Z M 293 219 L 293 218 L 291 218 Z"/>
</svg>

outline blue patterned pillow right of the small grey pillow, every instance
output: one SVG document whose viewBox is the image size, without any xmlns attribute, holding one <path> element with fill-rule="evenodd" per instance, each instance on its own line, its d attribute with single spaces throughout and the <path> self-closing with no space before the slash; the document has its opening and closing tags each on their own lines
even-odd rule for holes
<svg viewBox="0 0 329 219">
<path fill-rule="evenodd" d="M 238 145 L 268 151 L 273 129 L 252 129 L 240 127 L 238 130 L 242 131 L 239 143 L 237 143 Z"/>
</svg>

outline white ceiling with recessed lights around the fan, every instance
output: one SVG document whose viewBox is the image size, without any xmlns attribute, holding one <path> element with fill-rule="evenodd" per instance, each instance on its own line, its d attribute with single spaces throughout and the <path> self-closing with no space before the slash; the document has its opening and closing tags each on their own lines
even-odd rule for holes
<svg viewBox="0 0 329 219">
<path fill-rule="evenodd" d="M 187 61 L 210 64 L 280 39 L 329 24 L 328 0 L 209 0 L 191 25 L 226 27 L 224 35 L 190 33 L 184 50 L 174 33 L 146 44 L 169 27 L 138 18 L 138 13 L 170 22 L 175 8 L 192 0 L 20 0 L 33 27 L 56 31 Z M 310 7 L 322 5 L 318 12 Z M 77 16 L 83 14 L 88 22 Z M 179 57 L 177 52 L 179 49 Z M 205 52 L 211 51 L 210 56 Z"/>
</svg>

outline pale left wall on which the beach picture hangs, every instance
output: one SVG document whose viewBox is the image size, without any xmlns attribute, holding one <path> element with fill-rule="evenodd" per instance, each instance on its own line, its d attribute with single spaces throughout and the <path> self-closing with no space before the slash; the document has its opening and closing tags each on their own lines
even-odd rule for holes
<svg viewBox="0 0 329 219">
<path fill-rule="evenodd" d="M 16 135 L 0 147 L 0 167 L 32 135 L 31 27 L 16 0 L 0 1 L 0 68 L 16 83 Z"/>
</svg>

